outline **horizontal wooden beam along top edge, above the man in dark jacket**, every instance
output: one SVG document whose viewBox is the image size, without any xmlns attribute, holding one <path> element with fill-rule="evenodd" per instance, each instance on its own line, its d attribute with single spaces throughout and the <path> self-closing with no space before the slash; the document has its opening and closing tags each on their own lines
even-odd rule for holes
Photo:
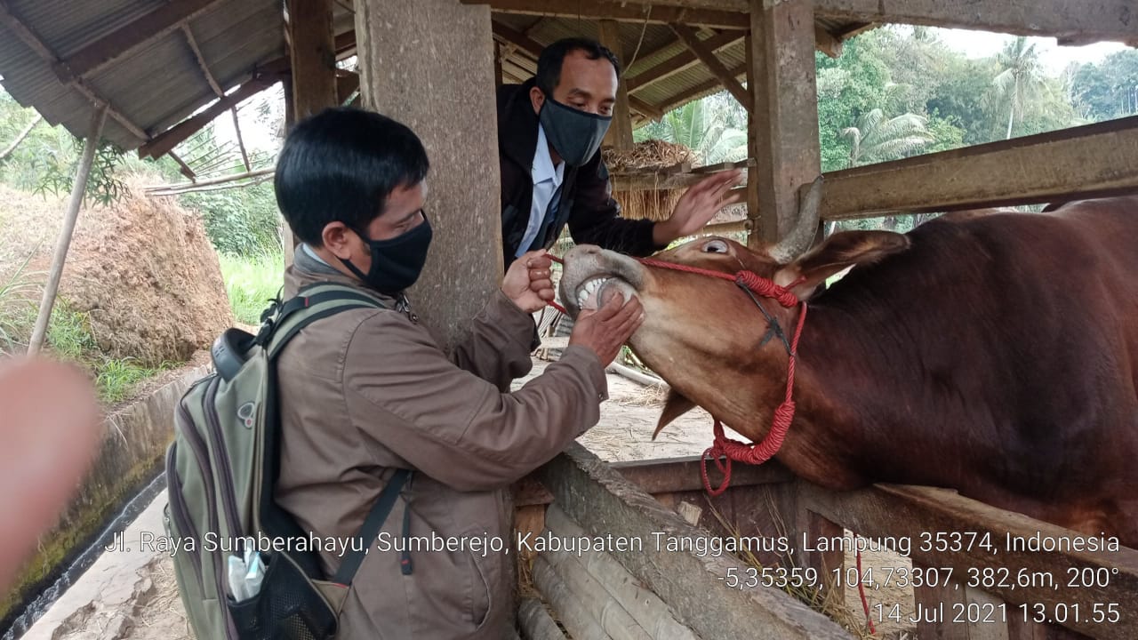
<svg viewBox="0 0 1138 640">
<path fill-rule="evenodd" d="M 719 28 L 748 28 L 745 9 L 721 10 L 676 6 L 671 2 L 636 2 L 624 0 L 575 0 L 574 2 L 550 2 L 547 0 L 461 0 L 463 5 L 489 5 L 490 9 L 505 14 L 526 14 L 566 18 L 609 18 L 643 24 L 684 23 L 687 25 Z"/>
</svg>

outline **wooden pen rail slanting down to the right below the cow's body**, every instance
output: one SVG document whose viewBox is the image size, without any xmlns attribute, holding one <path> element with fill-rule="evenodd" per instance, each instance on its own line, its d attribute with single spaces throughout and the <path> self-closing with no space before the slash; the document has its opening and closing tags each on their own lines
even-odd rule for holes
<svg viewBox="0 0 1138 640">
<path fill-rule="evenodd" d="M 1017 606 L 1022 604 L 1038 602 L 1052 609 L 1066 607 L 1069 612 L 1078 606 L 1081 620 L 1069 620 L 1063 626 L 1102 639 L 1138 637 L 1138 616 L 1127 614 L 1138 610 L 1138 551 L 1133 549 L 1032 551 L 1009 548 L 1009 536 L 1019 540 L 1015 536 L 1033 539 L 1038 535 L 1040 540 L 1070 545 L 1077 534 L 946 490 L 882 484 L 858 491 L 830 492 L 806 485 L 799 495 L 811 510 L 861 535 L 890 536 L 909 543 L 914 561 L 953 567 L 954 577 L 1006 600 L 1008 617 L 1022 618 L 1023 612 Z M 956 534 L 960 535 L 956 538 Z M 991 549 L 965 542 L 982 541 L 986 534 Z M 925 543 L 929 548 L 924 548 Z M 938 550 L 938 544 L 945 550 Z M 1069 586 L 1069 568 L 1098 574 L 1104 580 L 1088 586 Z M 1115 604 L 1119 622 L 1091 622 L 1096 604 L 1099 609 L 1106 604 Z"/>
</svg>

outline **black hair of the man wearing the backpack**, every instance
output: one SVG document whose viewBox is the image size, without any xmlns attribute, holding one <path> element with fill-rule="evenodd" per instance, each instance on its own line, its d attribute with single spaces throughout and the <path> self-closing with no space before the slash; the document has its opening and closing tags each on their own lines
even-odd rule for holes
<svg viewBox="0 0 1138 640">
<path fill-rule="evenodd" d="M 430 164 L 422 142 L 387 116 L 336 107 L 292 129 L 277 161 L 277 206 L 300 240 L 323 245 L 329 222 L 356 231 L 384 214 L 387 197 L 413 187 Z"/>
</svg>

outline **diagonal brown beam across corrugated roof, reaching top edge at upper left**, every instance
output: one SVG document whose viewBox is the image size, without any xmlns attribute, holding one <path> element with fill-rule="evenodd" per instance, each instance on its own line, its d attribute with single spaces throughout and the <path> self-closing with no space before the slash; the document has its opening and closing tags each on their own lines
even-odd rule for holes
<svg viewBox="0 0 1138 640">
<path fill-rule="evenodd" d="M 72 54 L 56 65 L 65 82 L 94 73 L 138 47 L 174 31 L 214 8 L 221 0 L 165 2 L 149 14 L 125 24 Z"/>
</svg>

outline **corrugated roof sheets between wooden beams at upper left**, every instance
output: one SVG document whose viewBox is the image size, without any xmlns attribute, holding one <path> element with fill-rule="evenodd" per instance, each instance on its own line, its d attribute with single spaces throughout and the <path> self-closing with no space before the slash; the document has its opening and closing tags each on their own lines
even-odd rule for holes
<svg viewBox="0 0 1138 640">
<path fill-rule="evenodd" d="M 65 59 L 168 1 L 8 0 L 8 7 L 58 59 Z M 257 65 L 284 55 L 282 6 L 281 0 L 223 0 L 185 23 L 206 67 L 223 90 L 251 77 Z M 351 31 L 351 13 L 339 3 L 335 7 L 337 34 Z M 92 112 L 90 99 L 75 87 L 65 85 L 48 60 L 3 25 L 0 75 L 5 89 L 19 104 L 34 106 L 53 125 L 63 124 L 73 134 L 85 136 Z M 149 136 L 216 99 L 181 28 L 85 75 L 83 83 Z M 125 149 L 146 142 L 109 116 L 104 137 Z"/>
</svg>

